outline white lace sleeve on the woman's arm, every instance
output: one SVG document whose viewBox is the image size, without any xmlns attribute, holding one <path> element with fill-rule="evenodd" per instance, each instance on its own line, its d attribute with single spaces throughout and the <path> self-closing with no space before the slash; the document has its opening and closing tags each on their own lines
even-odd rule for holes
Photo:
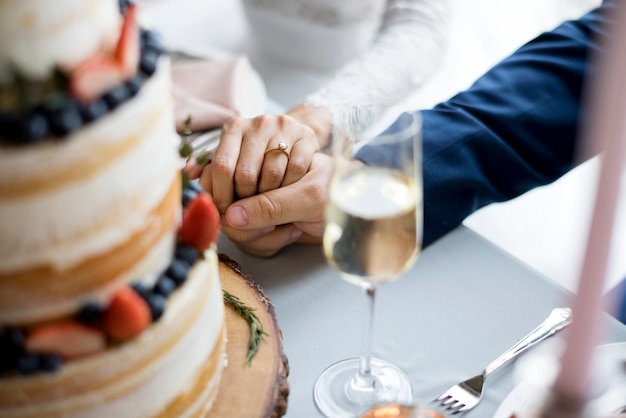
<svg viewBox="0 0 626 418">
<path fill-rule="evenodd" d="M 443 55 L 449 3 L 388 0 L 373 45 L 303 103 L 328 109 L 335 122 L 351 119 L 348 129 L 358 135 L 432 74 Z"/>
</svg>

